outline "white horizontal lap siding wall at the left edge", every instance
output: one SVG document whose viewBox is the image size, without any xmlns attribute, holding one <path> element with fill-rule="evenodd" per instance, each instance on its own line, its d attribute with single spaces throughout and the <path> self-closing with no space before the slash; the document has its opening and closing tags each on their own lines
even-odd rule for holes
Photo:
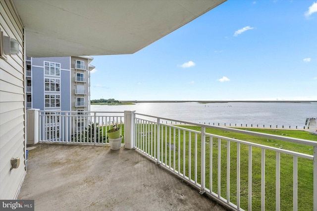
<svg viewBox="0 0 317 211">
<path fill-rule="evenodd" d="M 3 35 L 19 42 L 18 55 L 0 58 L 0 199 L 16 199 L 25 168 L 24 32 L 11 0 L 0 0 Z M 11 158 L 20 166 L 11 168 Z"/>
</svg>

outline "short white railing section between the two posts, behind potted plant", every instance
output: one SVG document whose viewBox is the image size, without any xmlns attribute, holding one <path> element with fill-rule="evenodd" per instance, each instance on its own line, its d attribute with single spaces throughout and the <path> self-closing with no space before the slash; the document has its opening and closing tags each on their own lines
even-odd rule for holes
<svg viewBox="0 0 317 211">
<path fill-rule="evenodd" d="M 123 120 L 123 112 L 39 111 L 39 141 L 108 144 L 107 129 Z"/>
</svg>

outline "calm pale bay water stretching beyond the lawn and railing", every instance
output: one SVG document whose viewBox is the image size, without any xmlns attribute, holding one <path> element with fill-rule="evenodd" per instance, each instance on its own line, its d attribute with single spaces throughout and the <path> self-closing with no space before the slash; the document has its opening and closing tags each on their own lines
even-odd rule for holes
<svg viewBox="0 0 317 211">
<path fill-rule="evenodd" d="M 228 126 L 303 128 L 306 118 L 317 118 L 317 103 L 137 103 L 92 105 L 91 111 L 129 111 L 193 123 Z"/>
</svg>

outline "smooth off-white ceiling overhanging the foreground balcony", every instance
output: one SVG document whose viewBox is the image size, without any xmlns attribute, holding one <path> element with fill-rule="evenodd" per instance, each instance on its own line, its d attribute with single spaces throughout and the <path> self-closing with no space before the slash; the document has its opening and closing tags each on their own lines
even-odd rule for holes
<svg viewBox="0 0 317 211">
<path fill-rule="evenodd" d="M 33 57 L 134 53 L 226 0 L 12 0 Z"/>
</svg>

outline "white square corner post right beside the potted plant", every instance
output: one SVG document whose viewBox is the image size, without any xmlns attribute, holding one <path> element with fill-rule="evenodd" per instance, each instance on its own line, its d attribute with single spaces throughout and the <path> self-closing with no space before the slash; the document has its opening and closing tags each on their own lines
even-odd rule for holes
<svg viewBox="0 0 317 211">
<path fill-rule="evenodd" d="M 134 112 L 124 111 L 124 148 L 133 149 L 134 144 Z"/>
</svg>

